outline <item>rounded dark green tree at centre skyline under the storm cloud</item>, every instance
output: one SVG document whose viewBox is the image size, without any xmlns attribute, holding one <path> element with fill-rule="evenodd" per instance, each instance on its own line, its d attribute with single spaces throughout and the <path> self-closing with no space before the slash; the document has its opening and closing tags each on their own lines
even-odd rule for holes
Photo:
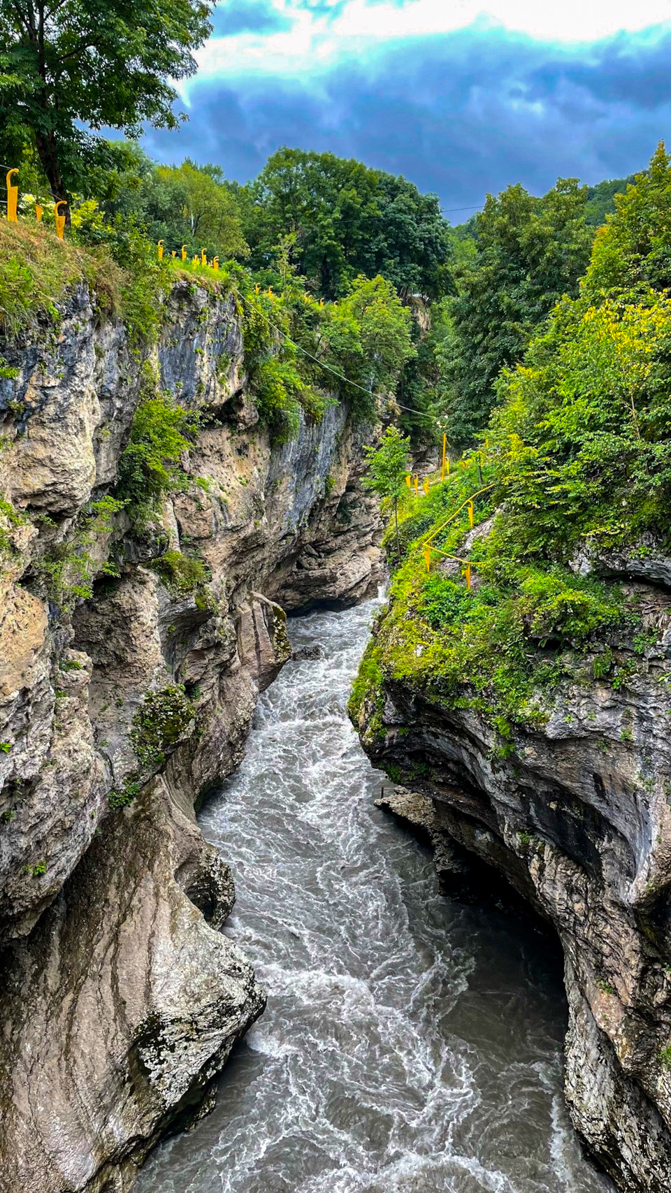
<svg viewBox="0 0 671 1193">
<path fill-rule="evenodd" d="M 435 194 L 404 178 L 333 154 L 279 149 L 248 187 L 232 186 L 254 268 L 272 268 L 277 245 L 295 234 L 312 289 L 346 293 L 358 274 L 382 273 L 401 297 L 449 288 L 448 224 Z"/>
</svg>

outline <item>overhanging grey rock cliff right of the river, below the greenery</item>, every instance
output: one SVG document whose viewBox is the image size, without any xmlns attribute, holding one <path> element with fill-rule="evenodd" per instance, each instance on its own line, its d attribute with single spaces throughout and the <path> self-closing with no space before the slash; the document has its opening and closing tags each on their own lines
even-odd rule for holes
<svg viewBox="0 0 671 1193">
<path fill-rule="evenodd" d="M 359 725 L 375 765 L 417 792 L 393 810 L 431 835 L 443 874 L 475 857 L 556 927 L 568 1106 L 626 1193 L 671 1188 L 669 563 L 653 552 L 645 568 L 596 561 L 638 593 L 657 645 L 642 663 L 632 651 L 620 687 L 577 676 L 505 750 L 473 710 L 393 678 L 364 700 Z"/>
</svg>

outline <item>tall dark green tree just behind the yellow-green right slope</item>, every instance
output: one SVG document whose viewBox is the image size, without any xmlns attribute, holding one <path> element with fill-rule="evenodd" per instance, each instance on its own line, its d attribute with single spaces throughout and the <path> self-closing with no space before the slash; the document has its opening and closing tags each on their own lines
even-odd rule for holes
<svg viewBox="0 0 671 1193">
<path fill-rule="evenodd" d="M 574 179 L 560 179 L 542 199 L 509 186 L 487 196 L 472 221 L 475 254 L 455 271 L 457 295 L 439 352 L 453 443 L 468 443 L 485 426 L 501 367 L 522 359 L 562 295 L 577 295 L 593 236 L 585 202 L 586 187 Z"/>
</svg>

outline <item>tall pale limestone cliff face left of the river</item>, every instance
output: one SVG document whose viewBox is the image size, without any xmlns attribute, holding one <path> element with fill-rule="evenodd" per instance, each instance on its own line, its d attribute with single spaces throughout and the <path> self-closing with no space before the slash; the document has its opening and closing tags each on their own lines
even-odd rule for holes
<svg viewBox="0 0 671 1193">
<path fill-rule="evenodd" d="M 2 1193 L 125 1191 L 207 1106 L 265 996 L 218 931 L 233 883 L 193 806 L 242 756 L 284 610 L 346 605 L 380 574 L 367 432 L 333 404 L 273 449 L 233 298 L 177 286 L 164 316 L 147 356 L 80 286 L 56 332 L 2 347 Z M 204 418 L 140 530 L 91 502 L 148 377 Z M 171 582 L 166 552 L 198 583 Z"/>
</svg>

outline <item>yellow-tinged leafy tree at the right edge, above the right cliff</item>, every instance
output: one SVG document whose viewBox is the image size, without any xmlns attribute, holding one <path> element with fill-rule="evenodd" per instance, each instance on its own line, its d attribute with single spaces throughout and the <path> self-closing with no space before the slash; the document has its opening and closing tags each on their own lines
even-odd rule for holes
<svg viewBox="0 0 671 1193">
<path fill-rule="evenodd" d="M 630 546 L 642 530 L 667 537 L 670 194 L 660 146 L 616 198 L 579 297 L 565 298 L 524 361 L 503 373 L 488 435 L 509 558 L 565 562 L 578 542 L 598 551 Z"/>
</svg>

